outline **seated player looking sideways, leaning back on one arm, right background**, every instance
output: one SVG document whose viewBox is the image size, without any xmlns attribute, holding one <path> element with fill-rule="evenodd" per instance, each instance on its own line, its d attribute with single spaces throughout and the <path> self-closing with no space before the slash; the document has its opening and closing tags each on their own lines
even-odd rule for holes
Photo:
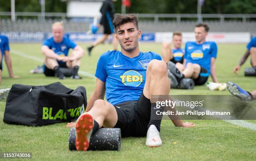
<svg viewBox="0 0 256 161">
<path fill-rule="evenodd" d="M 178 80 L 192 78 L 195 85 L 202 85 L 211 75 L 212 81 L 218 82 L 215 70 L 217 45 L 215 42 L 206 41 L 208 31 L 209 27 L 206 24 L 200 23 L 195 26 L 196 42 L 186 43 L 183 67 L 178 68 L 174 65 L 170 69 Z"/>
</svg>

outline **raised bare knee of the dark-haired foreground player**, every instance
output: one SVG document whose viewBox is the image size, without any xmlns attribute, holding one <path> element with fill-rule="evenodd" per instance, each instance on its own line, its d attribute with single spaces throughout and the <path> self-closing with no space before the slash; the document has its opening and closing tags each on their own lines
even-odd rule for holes
<svg viewBox="0 0 256 161">
<path fill-rule="evenodd" d="M 152 60 L 149 64 L 148 67 L 150 67 L 150 70 L 154 74 L 165 74 L 167 73 L 167 65 L 164 61 L 162 60 Z"/>
</svg>

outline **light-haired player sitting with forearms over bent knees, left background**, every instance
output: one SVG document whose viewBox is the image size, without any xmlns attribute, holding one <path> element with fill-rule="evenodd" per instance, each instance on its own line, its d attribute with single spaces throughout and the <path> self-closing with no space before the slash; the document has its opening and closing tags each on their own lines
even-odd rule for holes
<svg viewBox="0 0 256 161">
<path fill-rule="evenodd" d="M 44 74 L 46 76 L 56 76 L 65 79 L 60 67 L 73 68 L 72 79 L 81 79 L 77 72 L 80 66 L 80 59 L 84 50 L 74 42 L 64 37 L 64 26 L 62 22 L 55 22 L 52 25 L 53 37 L 43 42 L 42 52 L 46 56 L 44 63 Z M 68 56 L 69 49 L 73 52 Z"/>
</svg>

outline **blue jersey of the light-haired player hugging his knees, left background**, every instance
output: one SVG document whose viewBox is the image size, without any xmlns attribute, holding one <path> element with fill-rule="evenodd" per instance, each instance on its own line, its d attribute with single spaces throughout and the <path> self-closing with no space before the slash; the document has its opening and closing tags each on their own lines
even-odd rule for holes
<svg viewBox="0 0 256 161">
<path fill-rule="evenodd" d="M 67 56 L 69 53 L 69 49 L 74 49 L 77 45 L 69 40 L 67 37 L 63 37 L 63 40 L 60 43 L 54 42 L 53 37 L 45 40 L 43 42 L 43 45 L 46 45 L 49 47 L 49 49 L 53 50 L 56 54 L 60 56 Z M 58 63 L 63 63 L 61 61 L 58 61 Z"/>
</svg>

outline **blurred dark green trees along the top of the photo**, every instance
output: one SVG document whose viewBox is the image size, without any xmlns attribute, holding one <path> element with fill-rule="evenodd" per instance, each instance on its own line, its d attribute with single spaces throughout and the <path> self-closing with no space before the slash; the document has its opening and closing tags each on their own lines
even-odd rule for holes
<svg viewBox="0 0 256 161">
<path fill-rule="evenodd" d="M 130 0 L 126 13 L 197 13 L 197 0 Z M 67 2 L 45 0 L 45 12 L 66 12 Z M 121 12 L 121 0 L 114 2 Z M 0 12 L 10 12 L 10 0 L 0 1 Z M 40 0 L 15 0 L 16 12 L 41 12 Z M 256 0 L 205 0 L 202 13 L 255 14 Z"/>
</svg>

